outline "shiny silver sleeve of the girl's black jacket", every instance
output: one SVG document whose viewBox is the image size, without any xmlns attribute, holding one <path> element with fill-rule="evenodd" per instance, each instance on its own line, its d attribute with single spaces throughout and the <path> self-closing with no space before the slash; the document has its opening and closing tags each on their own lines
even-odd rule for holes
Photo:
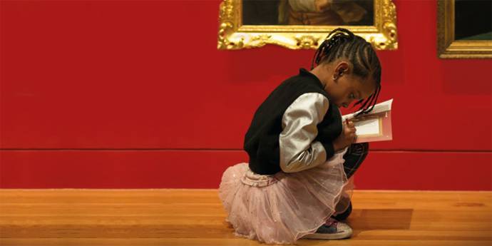
<svg viewBox="0 0 492 246">
<path fill-rule="evenodd" d="M 328 98 L 321 93 L 304 93 L 285 111 L 279 138 L 280 168 L 285 173 L 314 168 L 327 160 L 322 143 L 313 140 L 328 107 Z"/>
</svg>

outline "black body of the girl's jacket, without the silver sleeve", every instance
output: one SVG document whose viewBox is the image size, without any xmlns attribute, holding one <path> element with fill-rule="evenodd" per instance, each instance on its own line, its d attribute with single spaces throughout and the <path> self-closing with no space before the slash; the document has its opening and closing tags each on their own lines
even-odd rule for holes
<svg viewBox="0 0 492 246">
<path fill-rule="evenodd" d="M 249 166 L 254 173 L 272 175 L 282 170 L 279 148 L 282 117 L 299 96 L 313 92 L 321 93 L 329 100 L 321 81 L 314 74 L 301 68 L 299 75 L 283 81 L 257 108 L 244 142 L 244 149 L 250 157 Z M 318 135 L 315 141 L 321 142 L 327 152 L 327 158 L 332 158 L 332 142 L 342 133 L 340 111 L 332 101 L 329 100 L 328 111 L 317 128 Z"/>
</svg>

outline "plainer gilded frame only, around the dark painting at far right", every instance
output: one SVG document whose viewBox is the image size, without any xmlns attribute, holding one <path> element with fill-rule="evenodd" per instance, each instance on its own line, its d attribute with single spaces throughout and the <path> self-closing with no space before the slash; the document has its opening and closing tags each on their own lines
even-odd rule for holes
<svg viewBox="0 0 492 246">
<path fill-rule="evenodd" d="M 437 5 L 439 58 L 492 58 L 492 41 L 454 39 L 454 0 L 439 0 Z"/>
</svg>

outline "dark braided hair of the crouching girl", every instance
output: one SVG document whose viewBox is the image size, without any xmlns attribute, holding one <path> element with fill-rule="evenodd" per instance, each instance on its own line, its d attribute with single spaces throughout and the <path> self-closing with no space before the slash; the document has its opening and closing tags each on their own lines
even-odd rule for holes
<svg viewBox="0 0 492 246">
<path fill-rule="evenodd" d="M 372 76 L 376 81 L 376 91 L 364 100 L 357 101 L 354 106 L 362 103 L 359 108 L 360 114 L 367 114 L 372 111 L 376 105 L 379 92 L 381 91 L 381 64 L 376 56 L 376 52 L 371 46 L 371 43 L 356 36 L 347 29 L 334 29 L 331 31 L 323 43 L 319 46 L 311 63 L 311 69 L 314 68 L 314 63 L 329 63 L 337 58 L 347 58 L 354 66 L 354 75 L 361 78 Z"/>
</svg>

